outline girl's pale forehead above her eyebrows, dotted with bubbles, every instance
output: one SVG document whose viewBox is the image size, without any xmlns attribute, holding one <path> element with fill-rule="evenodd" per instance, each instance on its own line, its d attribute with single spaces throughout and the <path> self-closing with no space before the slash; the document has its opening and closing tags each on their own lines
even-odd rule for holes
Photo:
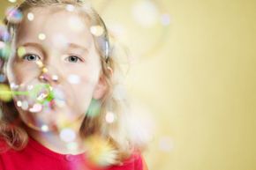
<svg viewBox="0 0 256 170">
<path fill-rule="evenodd" d="M 29 16 L 32 15 L 34 18 L 30 19 Z M 93 42 L 93 37 L 86 16 L 60 7 L 37 7 L 25 12 L 17 35 L 17 43 L 20 41 L 37 41 L 50 45 L 56 41 L 70 41 L 88 47 Z"/>
</svg>

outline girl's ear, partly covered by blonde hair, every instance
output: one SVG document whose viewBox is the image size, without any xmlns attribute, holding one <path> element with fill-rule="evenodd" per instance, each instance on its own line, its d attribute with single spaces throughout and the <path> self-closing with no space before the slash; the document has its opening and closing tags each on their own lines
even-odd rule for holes
<svg viewBox="0 0 256 170">
<path fill-rule="evenodd" d="M 108 67 L 107 70 L 109 71 L 109 74 L 112 77 L 113 70 L 111 68 L 109 68 L 109 67 Z M 104 94 L 109 90 L 108 88 L 109 88 L 109 85 L 107 83 L 107 79 L 106 79 L 106 77 L 102 73 L 100 78 L 99 78 L 99 81 L 98 81 L 98 83 L 97 83 L 97 85 L 95 86 L 95 89 L 94 89 L 94 93 L 93 93 L 94 100 L 102 99 Z"/>
</svg>

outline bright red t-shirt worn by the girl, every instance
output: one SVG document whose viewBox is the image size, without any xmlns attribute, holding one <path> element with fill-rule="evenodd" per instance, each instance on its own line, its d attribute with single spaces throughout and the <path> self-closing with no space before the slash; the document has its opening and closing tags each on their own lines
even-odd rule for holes
<svg viewBox="0 0 256 170">
<path fill-rule="evenodd" d="M 0 170 L 100 170 L 89 166 L 85 155 L 52 152 L 29 138 L 22 151 L 10 149 L 0 153 Z M 143 160 L 139 154 L 133 154 L 122 166 L 109 166 L 103 170 L 143 170 Z"/>
</svg>

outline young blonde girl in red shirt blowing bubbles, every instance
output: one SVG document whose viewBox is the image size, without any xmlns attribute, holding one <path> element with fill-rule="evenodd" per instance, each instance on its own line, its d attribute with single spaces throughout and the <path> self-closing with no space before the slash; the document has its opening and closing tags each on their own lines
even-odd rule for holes
<svg viewBox="0 0 256 170">
<path fill-rule="evenodd" d="M 81 0 L 26 0 L 5 23 L 0 169 L 147 169 L 96 11 Z"/>
</svg>

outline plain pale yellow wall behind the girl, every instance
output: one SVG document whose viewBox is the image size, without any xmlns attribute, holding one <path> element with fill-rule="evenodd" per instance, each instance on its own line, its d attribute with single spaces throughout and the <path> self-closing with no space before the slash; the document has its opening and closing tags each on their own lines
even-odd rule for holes
<svg viewBox="0 0 256 170">
<path fill-rule="evenodd" d="M 136 55 L 127 81 L 156 124 L 149 169 L 255 170 L 256 1 L 156 0 L 172 18 L 165 29 L 133 26 L 135 0 L 105 2 L 94 3 L 122 22 L 134 56 L 164 32 L 161 48 Z"/>
</svg>

